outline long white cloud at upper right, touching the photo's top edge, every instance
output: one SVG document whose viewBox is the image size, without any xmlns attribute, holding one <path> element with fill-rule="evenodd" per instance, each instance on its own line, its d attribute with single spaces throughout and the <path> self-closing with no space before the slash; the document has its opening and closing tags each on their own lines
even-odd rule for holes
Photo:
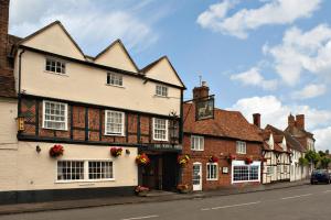
<svg viewBox="0 0 331 220">
<path fill-rule="evenodd" d="M 319 9 L 321 0 L 270 0 L 257 9 L 242 9 L 226 16 L 234 7 L 229 0 L 211 6 L 201 13 L 196 22 L 205 29 L 246 38 L 248 31 L 263 25 L 289 24 L 293 21 L 311 16 Z"/>
</svg>

